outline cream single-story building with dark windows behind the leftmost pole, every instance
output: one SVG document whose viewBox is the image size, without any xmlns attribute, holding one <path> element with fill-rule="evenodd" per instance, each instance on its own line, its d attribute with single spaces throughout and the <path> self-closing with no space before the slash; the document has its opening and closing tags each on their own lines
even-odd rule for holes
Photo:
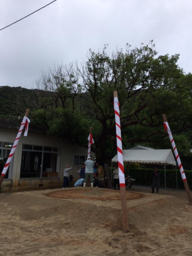
<svg viewBox="0 0 192 256">
<path fill-rule="evenodd" d="M 0 173 L 17 136 L 21 120 L 0 119 Z M 2 183 L 2 190 L 62 187 L 64 169 L 70 171 L 73 181 L 87 157 L 87 148 L 46 134 L 47 129 L 29 124 L 27 137 L 20 137 L 14 157 Z M 88 134 L 87 134 L 88 137 Z M 87 141 L 88 145 L 88 141 Z M 95 155 L 91 152 L 95 159 Z"/>
</svg>

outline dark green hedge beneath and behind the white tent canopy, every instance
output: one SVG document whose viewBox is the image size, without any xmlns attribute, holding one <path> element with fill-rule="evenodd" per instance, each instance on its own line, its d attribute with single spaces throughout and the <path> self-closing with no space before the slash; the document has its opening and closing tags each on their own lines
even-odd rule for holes
<svg viewBox="0 0 192 256">
<path fill-rule="evenodd" d="M 154 169 L 129 169 L 128 175 L 136 179 L 135 184 L 151 186 L 153 180 Z M 165 170 L 160 170 L 160 186 L 165 186 Z M 127 170 L 125 170 L 127 175 Z M 185 171 L 189 188 L 192 189 L 192 171 Z M 176 170 L 166 170 L 166 187 L 170 188 L 184 188 L 183 180 L 180 171 L 177 170 L 177 184 L 176 184 Z"/>
</svg>

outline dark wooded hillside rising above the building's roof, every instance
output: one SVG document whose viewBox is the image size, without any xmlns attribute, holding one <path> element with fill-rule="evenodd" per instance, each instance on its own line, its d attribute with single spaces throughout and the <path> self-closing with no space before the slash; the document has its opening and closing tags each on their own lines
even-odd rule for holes
<svg viewBox="0 0 192 256">
<path fill-rule="evenodd" d="M 70 99 L 70 96 L 68 96 Z M 89 100 L 87 93 L 80 93 L 76 101 L 81 106 L 79 111 L 89 112 Z M 54 92 L 39 89 L 26 89 L 22 87 L 0 86 L 0 117 L 13 119 L 10 116 L 23 117 L 26 109 L 30 108 L 30 114 L 39 109 L 47 109 L 54 105 L 58 107 L 58 99 Z M 90 115 L 90 113 L 89 113 Z M 91 115 L 90 115 L 91 116 Z M 35 122 L 35 120 L 32 120 Z"/>
</svg>

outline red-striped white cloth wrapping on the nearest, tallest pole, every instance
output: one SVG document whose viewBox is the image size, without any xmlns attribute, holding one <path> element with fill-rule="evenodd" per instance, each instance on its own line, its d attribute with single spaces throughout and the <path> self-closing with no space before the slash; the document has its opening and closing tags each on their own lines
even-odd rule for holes
<svg viewBox="0 0 192 256">
<path fill-rule="evenodd" d="M 116 125 L 116 143 L 117 143 L 117 158 L 119 166 L 119 183 L 120 187 L 125 187 L 125 174 L 123 165 L 123 153 L 122 153 L 122 140 L 121 140 L 121 125 L 120 125 L 120 112 L 119 101 L 117 97 L 114 97 L 114 111 L 115 111 L 115 125 Z"/>
</svg>

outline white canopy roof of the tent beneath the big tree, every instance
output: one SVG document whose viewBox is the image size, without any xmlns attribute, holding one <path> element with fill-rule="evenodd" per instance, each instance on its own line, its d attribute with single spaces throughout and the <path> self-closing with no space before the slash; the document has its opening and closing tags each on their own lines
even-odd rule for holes
<svg viewBox="0 0 192 256">
<path fill-rule="evenodd" d="M 117 154 L 113 157 L 112 162 L 117 162 Z M 151 163 L 166 164 L 176 166 L 175 158 L 171 149 L 152 149 L 152 150 L 123 150 L 123 161 L 130 163 Z"/>
</svg>

